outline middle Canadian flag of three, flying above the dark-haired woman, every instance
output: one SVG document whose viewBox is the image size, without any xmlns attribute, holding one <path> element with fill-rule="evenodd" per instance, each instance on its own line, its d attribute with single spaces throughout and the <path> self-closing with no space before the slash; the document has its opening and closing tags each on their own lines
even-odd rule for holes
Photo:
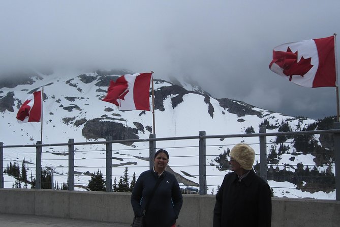
<svg viewBox="0 0 340 227">
<path fill-rule="evenodd" d="M 135 73 L 110 81 L 106 97 L 102 100 L 118 106 L 119 110 L 150 111 L 150 81 L 152 73 Z"/>
</svg>

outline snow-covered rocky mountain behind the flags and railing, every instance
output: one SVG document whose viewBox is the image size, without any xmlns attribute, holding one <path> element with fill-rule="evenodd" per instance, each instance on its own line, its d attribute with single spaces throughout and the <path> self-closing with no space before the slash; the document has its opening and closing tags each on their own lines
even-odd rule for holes
<svg viewBox="0 0 340 227">
<path fill-rule="evenodd" d="M 119 111 L 113 104 L 101 101 L 105 97 L 109 81 L 123 74 L 132 74 L 129 70 L 97 70 L 83 73 L 73 72 L 37 72 L 29 71 L 18 75 L 7 74 L 0 79 L 0 141 L 4 145 L 35 144 L 40 140 L 41 124 L 18 124 L 16 113 L 29 94 L 44 88 L 43 109 L 43 144 L 67 143 L 69 138 L 75 142 L 149 138 L 153 130 L 152 112 L 130 110 Z M 267 132 L 276 132 L 284 126 L 289 130 L 305 130 L 317 121 L 307 118 L 295 118 L 228 98 L 215 99 L 192 81 L 170 81 L 154 78 L 154 106 L 156 137 L 175 137 L 198 135 L 206 131 L 207 135 L 245 134 L 258 132 L 259 125 L 266 125 Z M 315 129 L 315 128 L 314 128 Z M 312 129 L 312 130 L 314 130 Z M 319 135 L 312 136 L 318 140 Z M 267 138 L 267 153 L 280 150 L 277 138 Z M 207 185 L 208 193 L 216 191 L 228 170 L 220 171 L 216 158 L 231 149 L 234 144 L 245 142 L 253 144 L 259 154 L 259 138 L 226 138 L 207 140 Z M 268 159 L 272 167 L 278 170 L 294 172 L 294 166 L 300 162 L 313 168 L 315 156 L 296 152 L 292 138 L 286 138 L 285 151 L 279 158 Z M 320 143 L 319 143 L 320 144 Z M 289 147 L 290 146 L 290 147 Z M 321 145 L 320 145 L 321 146 Z M 157 148 L 164 148 L 170 154 L 170 168 L 182 179 L 181 184 L 197 187 L 198 141 L 175 140 L 157 141 Z M 67 182 L 68 161 L 67 146 L 51 146 L 43 149 L 42 165 L 54 169 L 54 181 Z M 119 180 L 125 166 L 129 175 L 136 176 L 148 168 L 148 143 L 129 145 L 114 144 L 112 152 L 112 175 Z M 295 152 L 295 153 L 294 153 Z M 294 153 L 294 155 L 292 154 Z M 27 175 L 35 175 L 35 148 L 7 148 L 4 150 L 5 167 L 10 162 L 21 166 L 23 158 L 29 169 Z M 294 157 L 294 158 L 292 158 Z M 259 155 L 256 155 L 259 162 Z M 75 184 L 76 190 L 83 190 L 88 183 L 89 173 L 101 169 L 105 173 L 105 145 L 84 145 L 75 147 Z M 288 166 L 288 167 L 287 167 Z M 324 167 L 325 166 L 325 167 Z M 318 171 L 334 173 L 332 165 L 318 165 Z M 328 168 L 327 168 L 328 167 Z M 5 175 L 5 187 L 12 187 L 14 178 Z M 334 190 L 314 193 L 296 189 L 297 185 L 289 182 L 269 180 L 276 196 L 335 198 Z M 78 187 L 79 186 L 79 187 Z"/>
</svg>

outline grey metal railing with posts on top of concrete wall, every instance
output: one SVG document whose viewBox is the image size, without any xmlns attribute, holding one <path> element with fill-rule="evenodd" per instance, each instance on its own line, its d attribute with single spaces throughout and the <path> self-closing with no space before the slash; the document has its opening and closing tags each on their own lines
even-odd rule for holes
<svg viewBox="0 0 340 227">
<path fill-rule="evenodd" d="M 4 146 L 0 142 L 0 188 L 4 188 L 4 149 L 7 148 L 23 148 L 35 147 L 36 148 L 36 189 L 41 189 L 41 171 L 42 171 L 42 148 L 51 146 L 68 146 L 68 190 L 74 190 L 74 147 L 79 145 L 94 145 L 102 144 L 106 146 L 106 191 L 110 192 L 112 188 L 112 144 L 117 143 L 149 143 L 149 168 L 153 167 L 153 156 L 156 152 L 157 141 L 167 140 L 187 140 L 198 139 L 199 147 L 199 193 L 206 194 L 207 181 L 206 181 L 206 140 L 213 138 L 243 138 L 243 137 L 258 137 L 259 150 L 260 150 L 260 176 L 267 180 L 267 137 L 268 136 L 296 136 L 296 135 L 314 135 L 314 134 L 331 134 L 333 135 L 333 148 L 335 159 L 335 198 L 340 200 L 340 123 L 334 123 L 332 130 L 315 130 L 315 131 L 299 131 L 299 132 L 266 132 L 265 127 L 260 127 L 260 133 L 252 134 L 229 134 L 229 135 L 206 135 L 205 131 L 200 131 L 198 136 L 181 136 L 181 137 L 163 137 L 156 138 L 155 134 L 150 134 L 148 139 L 127 139 L 127 140 L 112 140 L 107 137 L 105 141 L 90 141 L 75 143 L 74 139 L 69 139 L 68 143 L 62 144 L 42 144 L 37 141 L 36 145 L 7 145 Z"/>
</svg>

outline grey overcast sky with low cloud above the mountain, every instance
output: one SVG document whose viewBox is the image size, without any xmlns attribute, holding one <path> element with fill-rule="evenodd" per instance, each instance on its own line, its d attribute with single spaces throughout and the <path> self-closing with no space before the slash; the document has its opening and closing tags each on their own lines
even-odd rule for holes
<svg viewBox="0 0 340 227">
<path fill-rule="evenodd" d="M 0 70 L 153 70 L 215 98 L 319 119 L 336 115 L 335 88 L 297 86 L 268 65 L 277 45 L 340 35 L 339 10 L 339 0 L 1 1 Z"/>
</svg>

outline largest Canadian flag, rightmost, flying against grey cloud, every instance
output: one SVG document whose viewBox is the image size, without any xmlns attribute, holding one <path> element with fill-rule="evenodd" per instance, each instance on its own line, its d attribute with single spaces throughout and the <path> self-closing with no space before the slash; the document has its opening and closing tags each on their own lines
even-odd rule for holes
<svg viewBox="0 0 340 227">
<path fill-rule="evenodd" d="M 269 69 L 303 87 L 335 87 L 334 36 L 276 46 Z"/>
</svg>

